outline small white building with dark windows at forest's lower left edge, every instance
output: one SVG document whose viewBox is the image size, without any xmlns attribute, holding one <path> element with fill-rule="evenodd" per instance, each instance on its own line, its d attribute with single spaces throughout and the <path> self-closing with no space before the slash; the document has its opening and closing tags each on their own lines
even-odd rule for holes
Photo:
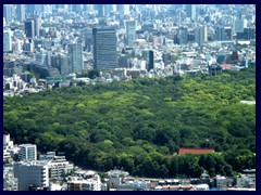
<svg viewBox="0 0 261 195">
<path fill-rule="evenodd" d="M 22 160 L 36 160 L 37 150 L 35 144 L 22 144 L 18 146 L 18 159 Z"/>
</svg>

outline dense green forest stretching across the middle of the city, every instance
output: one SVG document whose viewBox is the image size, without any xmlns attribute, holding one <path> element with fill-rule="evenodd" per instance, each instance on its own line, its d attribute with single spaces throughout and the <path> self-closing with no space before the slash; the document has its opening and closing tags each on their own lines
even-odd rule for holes
<svg viewBox="0 0 261 195">
<path fill-rule="evenodd" d="M 137 78 L 4 96 L 3 130 L 40 153 L 133 176 L 233 176 L 256 168 L 256 69 Z M 214 148 L 178 155 L 179 147 Z"/>
</svg>

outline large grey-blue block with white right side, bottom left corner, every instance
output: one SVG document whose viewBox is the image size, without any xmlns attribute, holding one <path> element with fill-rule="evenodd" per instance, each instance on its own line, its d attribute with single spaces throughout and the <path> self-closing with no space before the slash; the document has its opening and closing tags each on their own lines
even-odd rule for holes
<svg viewBox="0 0 261 195">
<path fill-rule="evenodd" d="M 29 191 L 29 186 L 49 186 L 49 171 L 46 162 L 20 161 L 14 164 L 14 177 L 18 179 L 18 191 Z"/>
</svg>

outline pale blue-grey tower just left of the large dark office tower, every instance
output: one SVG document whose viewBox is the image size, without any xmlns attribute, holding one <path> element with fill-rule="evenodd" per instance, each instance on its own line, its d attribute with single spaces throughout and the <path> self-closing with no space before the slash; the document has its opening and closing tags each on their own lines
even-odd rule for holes
<svg viewBox="0 0 261 195">
<path fill-rule="evenodd" d="M 83 72 L 83 46 L 82 43 L 67 44 L 70 72 L 82 73 Z"/>
</svg>

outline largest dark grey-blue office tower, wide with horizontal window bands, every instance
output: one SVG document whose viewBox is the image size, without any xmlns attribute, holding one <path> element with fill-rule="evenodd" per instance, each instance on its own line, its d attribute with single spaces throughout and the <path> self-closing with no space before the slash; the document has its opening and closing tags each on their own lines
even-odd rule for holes
<svg viewBox="0 0 261 195">
<path fill-rule="evenodd" d="M 94 28 L 94 68 L 117 68 L 116 32 L 114 28 Z"/>
</svg>

